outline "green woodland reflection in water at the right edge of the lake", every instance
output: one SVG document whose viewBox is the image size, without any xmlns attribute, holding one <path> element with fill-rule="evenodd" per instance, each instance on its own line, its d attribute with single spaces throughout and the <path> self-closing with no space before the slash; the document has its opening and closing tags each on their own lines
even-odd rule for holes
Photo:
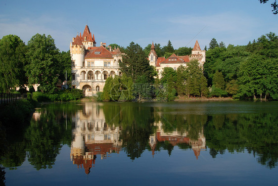
<svg viewBox="0 0 278 186">
<path fill-rule="evenodd" d="M 257 113 L 209 117 L 204 134 L 210 154 L 236 150 L 258 155 L 258 162 L 269 168 L 277 166 L 278 161 L 278 114 Z"/>
</svg>

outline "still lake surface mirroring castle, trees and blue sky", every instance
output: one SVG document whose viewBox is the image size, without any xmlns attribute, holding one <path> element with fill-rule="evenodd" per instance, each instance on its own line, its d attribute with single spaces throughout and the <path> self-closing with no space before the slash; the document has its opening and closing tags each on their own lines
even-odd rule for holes
<svg viewBox="0 0 278 186">
<path fill-rule="evenodd" d="M 278 102 L 50 103 L 7 140 L 6 186 L 278 181 Z"/>
</svg>

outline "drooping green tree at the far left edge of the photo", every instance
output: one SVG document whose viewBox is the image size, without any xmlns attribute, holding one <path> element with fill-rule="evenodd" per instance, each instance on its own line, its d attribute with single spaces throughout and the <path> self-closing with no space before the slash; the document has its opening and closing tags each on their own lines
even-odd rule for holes
<svg viewBox="0 0 278 186">
<path fill-rule="evenodd" d="M 15 35 L 4 36 L 0 40 L 0 92 L 23 86 L 26 82 L 23 70 L 27 48 Z"/>
</svg>

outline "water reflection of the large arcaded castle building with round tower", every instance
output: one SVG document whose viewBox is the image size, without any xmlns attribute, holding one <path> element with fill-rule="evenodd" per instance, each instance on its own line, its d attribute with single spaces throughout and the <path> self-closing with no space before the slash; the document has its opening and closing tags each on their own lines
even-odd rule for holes
<svg viewBox="0 0 278 186">
<path fill-rule="evenodd" d="M 122 141 L 119 140 L 119 127 L 107 126 L 99 103 L 85 103 L 83 111 L 76 113 L 72 130 L 71 160 L 85 169 L 86 174 L 95 163 L 96 155 L 101 159 L 107 153 L 119 153 Z"/>
</svg>

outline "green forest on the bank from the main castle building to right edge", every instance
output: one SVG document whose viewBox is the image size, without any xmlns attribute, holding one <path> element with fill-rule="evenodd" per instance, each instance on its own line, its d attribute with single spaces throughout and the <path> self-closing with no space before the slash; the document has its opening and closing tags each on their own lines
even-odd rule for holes
<svg viewBox="0 0 278 186">
<path fill-rule="evenodd" d="M 174 49 L 170 41 L 164 47 L 160 47 L 160 44 L 154 46 L 158 57 L 165 58 L 173 53 L 190 55 L 192 50 L 190 47 Z M 150 47 L 148 45 L 142 49 L 133 42 L 127 48 L 120 47 L 126 55 L 119 65 L 126 76 L 108 80 L 103 91 L 105 96 L 102 95 L 101 99 L 131 101 L 165 97 L 174 100 L 177 96 L 278 99 L 278 36 L 275 33 L 262 35 L 246 46 L 226 47 L 224 42 L 218 44 L 213 38 L 209 48 L 205 47 L 206 62 L 203 70 L 197 61 L 190 61 L 186 68 L 180 66 L 174 70 L 165 67 L 161 79 L 153 78 L 157 74 L 147 60 Z M 142 87 L 137 90 L 138 85 L 144 85 L 143 91 Z M 158 91 L 159 86 L 163 88 Z"/>
</svg>

